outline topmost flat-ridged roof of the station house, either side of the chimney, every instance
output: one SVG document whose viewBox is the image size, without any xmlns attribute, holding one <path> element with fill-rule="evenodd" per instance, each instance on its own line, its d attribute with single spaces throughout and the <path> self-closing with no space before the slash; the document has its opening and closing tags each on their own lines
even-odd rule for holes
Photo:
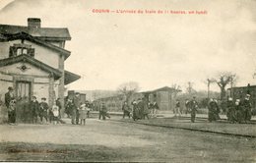
<svg viewBox="0 0 256 163">
<path fill-rule="evenodd" d="M 29 33 L 29 27 L 0 25 L 0 33 L 14 34 L 17 32 Z M 71 40 L 69 30 L 66 27 L 40 27 L 38 34 L 36 37 L 47 40 Z"/>
</svg>

